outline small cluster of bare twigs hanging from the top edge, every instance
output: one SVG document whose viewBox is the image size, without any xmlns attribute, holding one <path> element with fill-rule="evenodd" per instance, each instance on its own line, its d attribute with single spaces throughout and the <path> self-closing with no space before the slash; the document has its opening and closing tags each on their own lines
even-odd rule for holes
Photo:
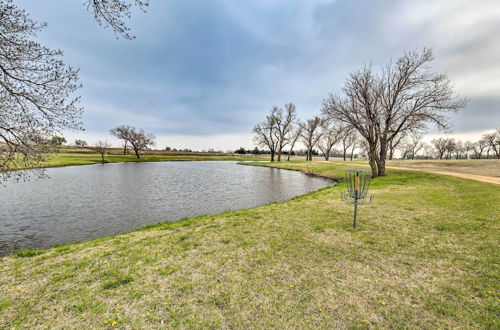
<svg viewBox="0 0 500 330">
<path fill-rule="evenodd" d="M 140 10 L 145 11 L 149 6 L 148 0 L 88 0 L 87 9 L 94 14 L 96 21 L 100 25 L 111 27 L 117 36 L 126 39 L 133 39 L 130 28 L 124 22 L 131 17 L 131 7 L 136 5 Z"/>
</svg>

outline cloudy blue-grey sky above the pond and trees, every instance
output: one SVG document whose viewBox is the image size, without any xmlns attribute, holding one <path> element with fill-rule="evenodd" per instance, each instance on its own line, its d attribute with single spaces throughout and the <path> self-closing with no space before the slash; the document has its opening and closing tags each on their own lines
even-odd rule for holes
<svg viewBox="0 0 500 330">
<path fill-rule="evenodd" d="M 15 3 L 48 23 L 38 40 L 80 68 L 85 131 L 65 132 L 70 142 L 118 145 L 109 129 L 125 124 L 158 148 L 253 148 L 273 105 L 294 102 L 307 119 L 351 71 L 423 47 L 469 99 L 452 136 L 500 127 L 498 0 L 150 0 L 127 21 L 134 40 L 99 26 L 85 0 Z"/>
</svg>

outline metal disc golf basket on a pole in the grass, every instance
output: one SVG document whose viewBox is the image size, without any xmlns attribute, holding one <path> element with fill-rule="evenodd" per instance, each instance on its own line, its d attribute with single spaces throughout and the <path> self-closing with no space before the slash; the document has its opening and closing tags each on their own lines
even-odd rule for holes
<svg viewBox="0 0 500 330">
<path fill-rule="evenodd" d="M 372 173 L 366 170 L 346 170 L 345 182 L 347 190 L 340 192 L 342 200 L 348 204 L 354 204 L 354 223 L 352 227 L 358 228 L 356 217 L 358 215 L 358 205 L 370 205 L 373 201 L 373 194 L 368 195 Z"/>
</svg>

